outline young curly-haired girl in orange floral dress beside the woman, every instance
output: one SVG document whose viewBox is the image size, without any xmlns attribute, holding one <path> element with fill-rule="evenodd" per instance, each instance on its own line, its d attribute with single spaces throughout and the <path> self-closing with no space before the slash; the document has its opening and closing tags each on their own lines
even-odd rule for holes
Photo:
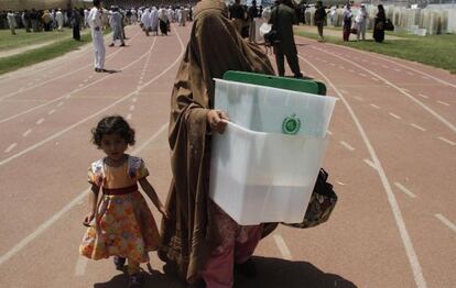
<svg viewBox="0 0 456 288">
<path fill-rule="evenodd" d="M 134 130 L 119 115 L 104 118 L 91 130 L 93 142 L 106 157 L 94 162 L 88 170 L 91 184 L 89 212 L 84 219 L 88 230 L 79 247 L 82 255 L 100 259 L 115 256 L 118 269 L 128 258 L 129 287 L 141 285 L 140 263 L 149 262 L 148 252 L 159 247 L 159 231 L 137 182 L 154 206 L 167 217 L 155 190 L 148 181 L 144 162 L 126 154 L 134 144 Z M 98 192 L 102 196 L 98 199 Z M 94 222 L 93 225 L 89 225 Z"/>
</svg>

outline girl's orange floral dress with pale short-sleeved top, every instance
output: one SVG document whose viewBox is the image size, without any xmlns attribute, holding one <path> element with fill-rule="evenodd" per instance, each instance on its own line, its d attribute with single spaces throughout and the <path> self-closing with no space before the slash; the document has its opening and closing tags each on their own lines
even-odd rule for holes
<svg viewBox="0 0 456 288">
<path fill-rule="evenodd" d="M 137 186 L 148 175 L 144 162 L 133 156 L 128 156 L 119 167 L 106 165 L 105 158 L 91 164 L 88 181 L 102 187 L 106 193 L 117 193 L 101 195 L 95 224 L 87 229 L 79 247 L 82 255 L 91 259 L 118 255 L 139 263 L 149 262 L 148 252 L 158 250 L 160 236 Z"/>
</svg>

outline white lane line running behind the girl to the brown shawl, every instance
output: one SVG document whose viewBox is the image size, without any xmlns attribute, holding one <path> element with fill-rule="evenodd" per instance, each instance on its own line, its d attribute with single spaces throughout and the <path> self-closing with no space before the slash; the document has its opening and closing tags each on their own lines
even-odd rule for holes
<svg viewBox="0 0 456 288">
<path fill-rule="evenodd" d="M 161 133 L 166 131 L 169 123 L 163 124 L 155 134 L 153 134 L 149 140 L 146 140 L 141 146 L 132 152 L 132 155 L 137 155 L 139 152 L 144 149 L 150 143 L 152 143 Z M 50 219 L 44 221 L 41 225 L 37 226 L 32 233 L 28 236 L 22 239 L 18 242 L 12 248 L 10 248 L 7 253 L 0 256 L 0 265 L 4 264 L 8 259 L 19 253 L 23 247 L 25 247 L 30 242 L 35 240 L 37 236 L 41 235 L 46 229 L 48 229 L 52 224 L 54 224 L 57 220 L 59 220 L 65 213 L 73 209 L 74 206 L 77 206 L 84 198 L 87 197 L 90 188 L 87 188 L 79 192 L 79 195 L 69 201 L 64 208 L 62 208 L 57 213 L 53 214 Z"/>
</svg>

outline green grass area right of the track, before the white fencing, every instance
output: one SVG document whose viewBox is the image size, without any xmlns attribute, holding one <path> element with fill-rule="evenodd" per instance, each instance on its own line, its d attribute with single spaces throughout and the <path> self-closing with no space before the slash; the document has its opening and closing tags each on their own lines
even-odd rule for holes
<svg viewBox="0 0 456 288">
<path fill-rule="evenodd" d="M 296 34 L 317 38 L 316 33 L 296 32 Z M 340 32 L 339 37 L 325 36 L 325 40 L 337 45 L 419 62 L 456 74 L 456 35 L 427 35 L 423 37 L 405 33 L 388 34 L 398 38 L 386 40 L 383 43 L 376 43 L 373 40 L 344 42 Z M 354 35 L 350 37 L 352 38 Z"/>
</svg>

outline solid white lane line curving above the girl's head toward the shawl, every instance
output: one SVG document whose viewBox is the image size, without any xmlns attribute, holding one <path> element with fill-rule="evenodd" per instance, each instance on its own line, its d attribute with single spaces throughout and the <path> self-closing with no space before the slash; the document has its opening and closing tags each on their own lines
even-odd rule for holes
<svg viewBox="0 0 456 288">
<path fill-rule="evenodd" d="M 177 58 L 176 58 L 176 59 L 175 59 L 175 60 L 174 60 L 174 62 L 173 62 L 170 66 L 167 66 L 167 68 L 165 68 L 165 69 L 164 69 L 162 73 L 160 73 L 158 76 L 155 76 L 154 78 L 152 78 L 151 80 L 149 80 L 146 84 L 144 84 L 144 85 L 143 85 L 140 89 L 142 89 L 142 88 L 144 88 L 144 87 L 149 86 L 150 84 L 154 82 L 156 79 L 161 78 L 164 74 L 166 74 L 169 70 L 171 70 L 171 68 L 173 68 L 173 67 L 177 64 L 177 62 L 178 62 L 178 60 L 181 60 L 181 57 L 184 55 L 184 44 L 182 43 L 181 36 L 180 36 L 177 33 L 176 33 L 176 35 L 177 35 L 177 40 L 178 40 L 178 42 L 181 43 L 181 54 L 177 56 Z M 155 38 L 154 38 L 154 42 L 153 42 L 153 43 L 155 43 Z M 149 54 L 152 52 L 152 47 L 153 47 L 153 44 L 152 44 L 152 46 L 151 46 L 151 49 L 149 51 Z M 146 55 L 146 54 L 144 54 L 144 55 Z M 143 55 L 143 56 L 144 56 L 144 55 Z M 143 56 L 141 56 L 141 57 L 143 57 Z M 79 126 L 80 124 L 83 124 L 83 123 L 87 122 L 89 119 L 93 119 L 93 118 L 95 118 L 95 117 L 97 117 L 97 115 L 99 115 L 99 114 L 105 113 L 105 111 L 109 110 L 110 108 L 112 108 L 112 107 L 117 106 L 118 103 L 120 103 L 120 102 L 122 102 L 122 101 L 126 101 L 127 99 L 129 99 L 129 98 L 130 98 L 130 97 L 132 97 L 133 95 L 135 95 L 135 91 L 133 91 L 133 92 L 131 92 L 131 93 L 129 93 L 129 95 L 127 95 L 127 96 L 124 96 L 124 97 L 122 97 L 122 98 L 120 98 L 120 99 L 116 100 L 115 102 L 112 102 L 111 104 L 109 104 L 109 106 L 105 107 L 104 109 L 98 110 L 98 112 L 96 112 L 96 113 L 94 113 L 94 114 L 91 114 L 91 115 L 89 115 L 89 117 L 87 117 L 87 118 L 85 118 L 85 119 L 80 120 L 79 122 L 74 123 L 73 125 L 67 126 L 66 129 L 64 129 L 64 130 L 62 130 L 62 131 L 59 131 L 59 132 L 57 132 L 57 133 L 55 133 L 55 134 L 53 134 L 53 135 L 48 136 L 47 139 L 42 140 L 42 141 L 40 141 L 40 142 L 35 143 L 34 145 L 29 146 L 28 148 L 25 148 L 25 149 L 23 149 L 23 151 L 21 151 L 21 152 L 17 153 L 17 154 L 14 154 L 14 155 L 12 155 L 12 156 L 10 156 L 10 157 L 6 158 L 6 159 L 0 160 L 0 166 L 2 166 L 2 165 L 4 165 L 4 164 L 9 163 L 10 160 L 12 160 L 12 159 L 14 159 L 14 158 L 18 158 L 18 157 L 22 156 L 22 155 L 24 155 L 24 154 L 26 154 L 26 153 L 29 153 L 29 152 L 31 152 L 31 151 L 34 151 L 35 148 L 37 148 L 37 147 L 40 147 L 40 146 L 44 145 L 45 143 L 50 142 L 51 140 L 54 140 L 54 139 L 56 139 L 56 137 L 58 137 L 58 136 L 61 136 L 61 135 L 65 134 L 66 132 L 68 132 L 68 131 L 70 131 L 70 130 L 73 130 L 74 128 L 77 128 L 77 126 Z"/>
</svg>

